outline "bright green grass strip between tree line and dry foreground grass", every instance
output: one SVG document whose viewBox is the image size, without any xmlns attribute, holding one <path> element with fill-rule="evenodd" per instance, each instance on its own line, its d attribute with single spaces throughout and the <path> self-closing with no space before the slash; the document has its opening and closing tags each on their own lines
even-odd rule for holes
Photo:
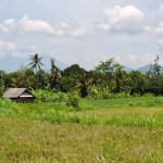
<svg viewBox="0 0 163 163">
<path fill-rule="evenodd" d="M 0 99 L 0 117 L 47 121 L 51 123 L 78 123 L 87 125 L 115 125 L 131 127 L 163 127 L 163 98 L 133 98 L 112 100 L 80 100 L 80 110 L 66 102 L 21 104 Z M 130 103 L 134 103 L 130 104 Z M 146 106 L 152 103 L 152 106 Z M 117 108 L 121 105 L 120 108 Z M 151 104 L 150 104 L 151 105 Z M 153 106 L 154 105 L 154 106 Z M 150 109 L 150 110 L 149 110 Z"/>
</svg>

